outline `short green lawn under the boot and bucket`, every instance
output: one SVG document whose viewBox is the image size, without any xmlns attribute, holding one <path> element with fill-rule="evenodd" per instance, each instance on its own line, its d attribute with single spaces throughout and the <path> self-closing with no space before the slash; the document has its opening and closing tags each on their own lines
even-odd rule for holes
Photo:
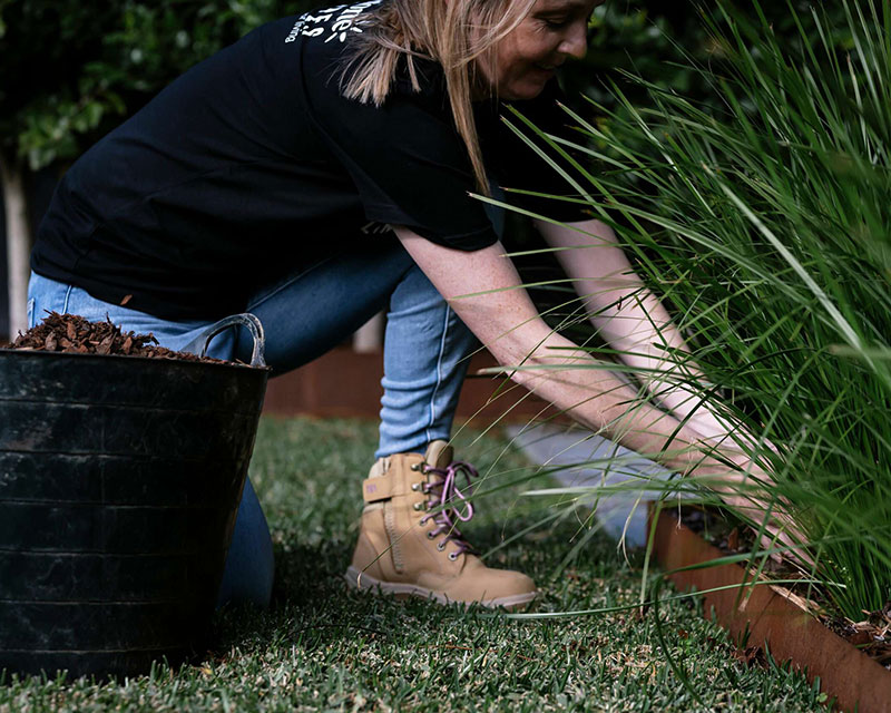
<svg viewBox="0 0 891 713">
<path fill-rule="evenodd" d="M 486 488 L 530 472 L 507 441 L 478 436 L 464 431 L 459 442 L 488 473 Z M 341 576 L 374 443 L 368 422 L 264 420 L 251 473 L 276 545 L 272 609 L 225 612 L 205 661 L 179 671 L 158 665 L 151 675 L 105 684 L 7 677 L 0 712 L 824 710 L 802 676 L 734 660 L 725 635 L 691 600 L 665 604 L 659 615 L 701 702 L 666 663 L 652 608 L 643 617 L 621 611 L 529 621 L 349 592 Z M 521 489 L 479 499 L 483 512 L 467 528 L 478 547 L 491 549 L 546 515 Z M 581 521 L 581 514 L 566 518 L 489 557 L 536 578 L 546 592 L 538 612 L 635 602 L 639 561 L 626 561 L 606 538 L 593 538 L 558 574 Z"/>
</svg>

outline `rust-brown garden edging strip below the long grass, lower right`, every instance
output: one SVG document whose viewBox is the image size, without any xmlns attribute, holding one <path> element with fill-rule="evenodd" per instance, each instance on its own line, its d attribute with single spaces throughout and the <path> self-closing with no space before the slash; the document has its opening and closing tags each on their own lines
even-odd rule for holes
<svg viewBox="0 0 891 713">
<path fill-rule="evenodd" d="M 656 525 L 654 551 L 668 572 L 725 556 L 667 512 L 662 514 Z M 678 572 L 669 575 L 669 579 L 683 590 L 695 587 L 705 592 L 742 584 L 745 572 L 738 565 L 727 564 Z M 776 661 L 791 660 L 811 682 L 820 676 L 821 690 L 835 697 L 839 709 L 891 713 L 891 671 L 770 586 L 709 592 L 703 598 L 705 616 L 711 616 L 714 609 L 717 622 L 735 642 L 747 631 L 748 645 L 766 644 Z"/>
</svg>

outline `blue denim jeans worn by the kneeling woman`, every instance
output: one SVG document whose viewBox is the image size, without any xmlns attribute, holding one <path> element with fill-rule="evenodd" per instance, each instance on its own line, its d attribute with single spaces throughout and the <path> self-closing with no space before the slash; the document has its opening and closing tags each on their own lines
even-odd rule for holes
<svg viewBox="0 0 891 713">
<path fill-rule="evenodd" d="M 258 291 L 247 304 L 266 333 L 266 362 L 283 373 L 342 343 L 388 309 L 380 442 L 375 457 L 423 451 L 448 439 L 474 339 L 430 281 L 392 237 L 370 236 L 358 247 L 317 262 Z M 163 346 L 180 349 L 210 321 L 173 322 L 101 302 L 84 290 L 31 274 L 28 325 L 47 311 L 106 316 L 125 331 L 151 332 Z M 251 339 L 236 330 L 217 336 L 210 356 L 249 361 Z M 266 518 L 245 484 L 219 603 L 266 606 L 274 563 Z"/>
</svg>

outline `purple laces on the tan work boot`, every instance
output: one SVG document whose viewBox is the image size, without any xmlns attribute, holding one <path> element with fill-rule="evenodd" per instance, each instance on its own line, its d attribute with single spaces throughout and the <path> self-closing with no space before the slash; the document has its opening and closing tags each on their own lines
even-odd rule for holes
<svg viewBox="0 0 891 713">
<path fill-rule="evenodd" d="M 438 477 L 437 480 L 428 481 L 423 486 L 423 492 L 430 496 L 430 499 L 427 501 L 427 508 L 429 510 L 434 508 L 441 509 L 425 515 L 421 518 L 421 524 L 423 525 L 432 519 L 437 524 L 437 527 L 430 530 L 428 537 L 433 539 L 444 534 L 446 537 L 439 543 L 438 547 L 439 549 L 444 549 L 449 540 L 453 541 L 457 548 L 449 553 L 449 558 L 457 559 L 458 555 L 472 550 L 472 547 L 464 541 L 457 526 L 459 520 L 461 522 L 468 522 L 470 518 L 473 517 L 473 504 L 468 501 L 467 498 L 473 492 L 471 479 L 478 478 L 479 473 L 473 466 L 462 460 L 456 460 L 446 468 L 432 468 L 431 466 L 424 465 L 422 472 L 428 476 L 432 475 Z M 459 473 L 463 473 L 467 481 L 463 491 L 458 487 Z M 467 510 L 463 514 L 457 507 L 458 500 L 463 500 L 467 506 Z"/>
</svg>

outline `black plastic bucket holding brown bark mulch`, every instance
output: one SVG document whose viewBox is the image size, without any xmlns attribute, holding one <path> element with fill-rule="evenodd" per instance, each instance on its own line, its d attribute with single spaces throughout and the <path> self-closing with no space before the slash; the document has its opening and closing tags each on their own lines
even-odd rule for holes
<svg viewBox="0 0 891 713">
<path fill-rule="evenodd" d="M 206 645 L 268 370 L 0 350 L 0 670 L 138 675 Z"/>
</svg>

